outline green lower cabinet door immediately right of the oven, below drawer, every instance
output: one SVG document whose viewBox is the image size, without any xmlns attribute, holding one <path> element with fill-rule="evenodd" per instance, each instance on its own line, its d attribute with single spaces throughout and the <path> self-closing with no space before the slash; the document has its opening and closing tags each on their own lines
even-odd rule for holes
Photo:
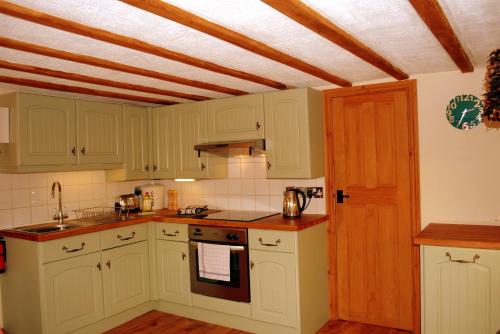
<svg viewBox="0 0 500 334">
<path fill-rule="evenodd" d="M 250 250 L 252 318 L 297 326 L 297 264 L 293 254 Z"/>
</svg>

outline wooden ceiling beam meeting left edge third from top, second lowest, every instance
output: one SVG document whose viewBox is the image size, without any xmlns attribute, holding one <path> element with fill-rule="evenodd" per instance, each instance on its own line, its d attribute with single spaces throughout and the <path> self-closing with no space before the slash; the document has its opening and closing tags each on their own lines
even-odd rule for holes
<svg viewBox="0 0 500 334">
<path fill-rule="evenodd" d="M 151 94 L 169 95 L 169 96 L 174 96 L 174 97 L 178 97 L 181 99 L 187 99 L 187 100 L 203 101 L 203 100 L 209 99 L 209 97 L 206 97 L 206 96 L 185 94 L 185 93 L 179 93 L 179 92 L 166 90 L 166 89 L 159 89 L 159 88 L 142 86 L 142 85 L 135 85 L 135 84 L 125 83 L 125 82 L 101 79 L 101 78 L 91 77 L 91 76 L 83 75 L 83 74 L 52 70 L 52 69 L 45 68 L 45 67 L 12 63 L 12 62 L 9 62 L 6 60 L 1 60 L 1 59 L 0 59 L 0 68 L 7 68 L 10 70 L 15 70 L 15 71 L 40 74 L 40 75 L 45 75 L 45 76 L 49 76 L 49 77 L 86 82 L 86 83 L 108 86 L 108 87 L 122 88 L 122 89 L 127 89 L 127 90 L 135 90 L 135 91 L 151 93 Z"/>
</svg>

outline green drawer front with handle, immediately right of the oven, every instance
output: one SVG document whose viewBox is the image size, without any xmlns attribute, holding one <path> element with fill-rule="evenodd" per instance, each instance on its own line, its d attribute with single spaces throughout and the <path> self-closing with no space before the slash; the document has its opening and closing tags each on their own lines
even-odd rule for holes
<svg viewBox="0 0 500 334">
<path fill-rule="evenodd" d="M 295 253 L 297 232 L 249 229 L 248 245 L 250 249 Z"/>
</svg>

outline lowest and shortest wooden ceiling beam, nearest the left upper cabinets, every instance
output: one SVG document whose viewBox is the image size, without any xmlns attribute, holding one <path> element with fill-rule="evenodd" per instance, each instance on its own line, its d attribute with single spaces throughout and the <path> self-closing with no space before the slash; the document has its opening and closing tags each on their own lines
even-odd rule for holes
<svg viewBox="0 0 500 334">
<path fill-rule="evenodd" d="M 104 97 L 111 97 L 114 99 L 131 100 L 131 101 L 147 102 L 147 103 L 154 103 L 154 104 L 171 105 L 171 104 L 177 103 L 174 101 L 156 99 L 156 98 L 152 98 L 152 97 L 115 93 L 115 92 L 109 92 L 109 91 L 105 91 L 105 90 L 91 89 L 91 88 L 78 87 L 78 86 L 61 85 L 61 84 L 55 84 L 52 82 L 45 82 L 45 81 L 38 81 L 38 80 L 31 80 L 31 79 L 13 78 L 13 77 L 8 77 L 8 76 L 4 76 L 4 75 L 0 75 L 0 82 L 21 85 L 21 86 L 29 86 L 29 87 L 37 87 L 37 88 L 43 88 L 43 89 L 58 90 L 58 91 L 62 91 L 62 92 L 104 96 Z"/>
</svg>

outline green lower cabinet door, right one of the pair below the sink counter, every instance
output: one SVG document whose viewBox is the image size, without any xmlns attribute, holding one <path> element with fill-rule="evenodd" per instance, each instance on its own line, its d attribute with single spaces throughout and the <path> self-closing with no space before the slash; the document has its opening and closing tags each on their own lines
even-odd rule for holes
<svg viewBox="0 0 500 334">
<path fill-rule="evenodd" d="M 102 253 L 106 317 L 149 301 L 149 260 L 146 241 Z"/>
</svg>

